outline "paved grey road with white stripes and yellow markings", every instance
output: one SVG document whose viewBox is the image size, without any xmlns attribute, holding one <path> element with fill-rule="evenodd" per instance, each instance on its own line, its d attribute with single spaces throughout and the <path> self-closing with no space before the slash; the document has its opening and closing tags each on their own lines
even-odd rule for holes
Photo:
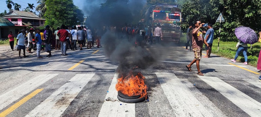
<svg viewBox="0 0 261 117">
<path fill-rule="evenodd" d="M 195 65 L 191 72 L 185 67 L 193 52 L 183 47 L 147 51 L 154 49 L 161 60 L 142 70 L 149 101 L 136 104 L 105 101 L 117 98 L 117 63 L 103 48 L 0 60 L 0 117 L 261 116 L 261 83 L 254 67 L 212 55 L 200 61 L 202 77 Z"/>
</svg>

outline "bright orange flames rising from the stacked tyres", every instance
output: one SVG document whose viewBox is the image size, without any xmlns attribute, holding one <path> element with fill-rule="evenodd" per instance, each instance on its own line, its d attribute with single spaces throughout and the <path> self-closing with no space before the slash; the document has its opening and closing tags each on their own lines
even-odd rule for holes
<svg viewBox="0 0 261 117">
<path fill-rule="evenodd" d="M 141 95 L 140 98 L 145 97 L 147 99 L 147 86 L 144 83 L 144 79 L 145 77 L 141 73 L 134 76 L 131 71 L 125 78 L 122 76 L 118 79 L 115 88 L 124 95 Z"/>
</svg>

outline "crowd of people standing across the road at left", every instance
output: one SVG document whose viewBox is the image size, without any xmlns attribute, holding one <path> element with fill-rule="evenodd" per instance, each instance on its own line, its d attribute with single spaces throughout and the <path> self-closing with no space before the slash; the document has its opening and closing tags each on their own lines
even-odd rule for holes
<svg viewBox="0 0 261 117">
<path fill-rule="evenodd" d="M 57 27 L 57 30 L 52 31 L 49 25 L 42 30 L 40 29 L 29 29 L 26 31 L 22 29 L 17 35 L 17 45 L 16 49 L 19 51 L 19 58 L 28 57 L 26 56 L 26 50 L 28 53 L 32 53 L 32 49 L 36 50 L 37 58 L 42 58 L 40 55 L 41 50 L 45 50 L 49 53 L 46 57 L 51 57 L 52 49 L 61 50 L 61 55 L 66 56 L 67 49 L 72 51 L 77 50 L 77 43 L 79 44 L 79 49 L 83 50 L 83 47 L 91 49 L 96 43 L 96 47 L 101 47 L 100 40 L 105 34 L 105 29 L 94 29 L 92 31 L 86 26 L 73 26 L 66 27 L 61 25 Z M 8 35 L 10 40 L 11 49 L 14 50 L 14 35 L 10 31 Z M 23 57 L 21 56 L 21 51 L 23 50 Z"/>
</svg>

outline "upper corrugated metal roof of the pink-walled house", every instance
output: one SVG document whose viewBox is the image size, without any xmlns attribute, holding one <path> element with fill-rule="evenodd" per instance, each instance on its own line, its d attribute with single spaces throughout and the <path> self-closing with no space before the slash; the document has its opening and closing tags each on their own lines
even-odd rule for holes
<svg viewBox="0 0 261 117">
<path fill-rule="evenodd" d="M 30 18 L 40 18 L 36 14 L 32 12 L 25 12 L 25 11 L 17 11 L 17 10 L 12 10 L 8 14 L 6 14 L 3 17 L 11 17 L 11 16 L 22 16 L 22 17 L 30 17 Z"/>
</svg>

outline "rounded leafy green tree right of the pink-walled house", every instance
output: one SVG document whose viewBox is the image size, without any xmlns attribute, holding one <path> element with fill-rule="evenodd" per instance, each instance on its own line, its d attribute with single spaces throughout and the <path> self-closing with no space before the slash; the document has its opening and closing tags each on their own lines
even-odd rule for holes
<svg viewBox="0 0 261 117">
<path fill-rule="evenodd" d="M 84 20 L 83 13 L 73 4 L 73 0 L 46 0 L 45 25 L 58 27 L 77 25 Z"/>
</svg>

